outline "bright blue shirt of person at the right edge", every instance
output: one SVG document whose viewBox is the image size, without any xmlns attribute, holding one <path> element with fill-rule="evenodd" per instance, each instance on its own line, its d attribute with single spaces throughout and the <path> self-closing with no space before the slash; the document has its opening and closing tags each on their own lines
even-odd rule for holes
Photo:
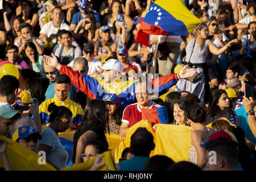
<svg viewBox="0 0 256 182">
<path fill-rule="evenodd" d="M 239 109 L 236 109 L 235 111 L 238 116 L 239 126 L 243 129 L 243 131 L 245 131 L 245 137 L 256 144 L 256 138 L 254 137 L 253 133 L 251 133 L 251 129 L 249 127 L 249 121 L 245 110 L 245 106 L 242 106 Z"/>
</svg>

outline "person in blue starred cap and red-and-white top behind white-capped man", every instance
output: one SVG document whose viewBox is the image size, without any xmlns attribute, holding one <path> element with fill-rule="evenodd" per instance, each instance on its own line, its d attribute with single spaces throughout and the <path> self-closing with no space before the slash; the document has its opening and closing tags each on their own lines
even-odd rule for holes
<svg viewBox="0 0 256 182">
<path fill-rule="evenodd" d="M 133 68 L 138 72 L 138 75 L 141 76 L 142 69 L 141 66 L 138 63 L 135 63 L 134 61 L 130 61 L 128 58 L 128 50 L 125 46 L 119 46 L 117 49 L 117 59 L 123 66 L 123 73 L 125 73 L 130 69 Z"/>
</svg>

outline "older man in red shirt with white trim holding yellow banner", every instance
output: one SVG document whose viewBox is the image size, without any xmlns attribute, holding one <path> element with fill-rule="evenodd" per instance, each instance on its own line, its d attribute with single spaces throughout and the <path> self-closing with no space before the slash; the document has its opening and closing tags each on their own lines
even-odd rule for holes
<svg viewBox="0 0 256 182">
<path fill-rule="evenodd" d="M 122 124 L 119 131 L 121 140 L 125 139 L 126 133 L 131 126 L 142 120 L 142 108 L 152 109 L 154 107 L 162 107 L 151 100 L 150 96 L 152 93 L 148 92 L 148 88 L 152 88 L 152 85 L 147 84 L 150 84 L 150 82 L 143 82 L 141 80 L 138 82 L 135 86 L 135 93 L 138 102 L 125 107 L 125 110 L 123 110 Z"/>
</svg>

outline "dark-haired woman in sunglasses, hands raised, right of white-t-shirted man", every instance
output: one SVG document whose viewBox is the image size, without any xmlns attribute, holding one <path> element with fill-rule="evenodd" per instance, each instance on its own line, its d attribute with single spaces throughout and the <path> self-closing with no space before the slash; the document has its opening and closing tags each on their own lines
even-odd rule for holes
<svg viewBox="0 0 256 182">
<path fill-rule="evenodd" d="M 99 29 L 96 28 L 96 18 L 88 14 L 77 24 L 74 30 L 74 38 L 80 46 L 85 43 L 94 43 L 98 39 Z"/>
</svg>

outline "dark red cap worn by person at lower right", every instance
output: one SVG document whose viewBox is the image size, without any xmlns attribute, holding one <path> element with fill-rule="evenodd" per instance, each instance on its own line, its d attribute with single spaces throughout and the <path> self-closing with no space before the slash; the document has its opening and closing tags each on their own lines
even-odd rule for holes
<svg viewBox="0 0 256 182">
<path fill-rule="evenodd" d="M 229 140 L 234 140 L 235 142 L 238 142 L 237 138 L 235 137 L 235 135 L 233 133 L 231 133 L 230 131 L 227 131 L 227 130 L 217 130 L 217 131 L 214 131 L 210 135 L 210 138 L 208 140 L 205 140 L 204 142 L 201 142 L 200 146 L 204 147 L 205 144 L 207 144 L 207 142 L 209 142 L 210 140 L 217 139 L 217 138 L 227 138 Z"/>
</svg>

